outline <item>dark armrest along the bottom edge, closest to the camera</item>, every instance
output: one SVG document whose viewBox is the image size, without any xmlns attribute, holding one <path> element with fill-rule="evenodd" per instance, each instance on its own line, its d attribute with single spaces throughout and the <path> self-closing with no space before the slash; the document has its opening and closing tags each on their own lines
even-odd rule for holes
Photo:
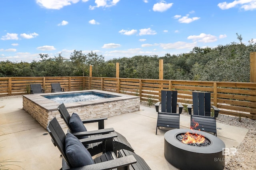
<svg viewBox="0 0 256 170">
<path fill-rule="evenodd" d="M 113 160 L 108 160 L 105 162 L 100 162 L 97 164 L 91 164 L 86 166 L 81 166 L 78 168 L 72 168 L 72 170 L 110 170 L 114 168 L 129 169 L 129 165 L 136 163 L 137 160 L 133 155 L 124 156 L 121 158 L 116 158 Z M 70 169 L 71 170 L 71 169 Z"/>
</svg>

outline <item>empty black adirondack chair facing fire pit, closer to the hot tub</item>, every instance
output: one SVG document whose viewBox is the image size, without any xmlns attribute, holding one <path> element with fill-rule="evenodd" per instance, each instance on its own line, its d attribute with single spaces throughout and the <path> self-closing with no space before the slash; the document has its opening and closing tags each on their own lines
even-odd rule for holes
<svg viewBox="0 0 256 170">
<path fill-rule="evenodd" d="M 180 128 L 180 114 L 183 105 L 177 102 L 177 94 L 177 91 L 161 91 L 161 102 L 155 104 L 156 112 L 158 112 L 156 134 L 159 127 Z M 161 111 L 159 111 L 160 103 Z M 179 113 L 177 113 L 177 105 Z"/>
</svg>

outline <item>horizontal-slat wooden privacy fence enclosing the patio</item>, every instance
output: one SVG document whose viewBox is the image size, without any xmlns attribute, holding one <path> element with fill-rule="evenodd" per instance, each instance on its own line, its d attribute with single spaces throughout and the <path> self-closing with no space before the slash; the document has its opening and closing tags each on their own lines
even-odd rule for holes
<svg viewBox="0 0 256 170">
<path fill-rule="evenodd" d="M 220 113 L 256 119 L 256 83 L 128 79 L 109 77 L 0 77 L 0 96 L 24 95 L 30 83 L 40 83 L 46 93 L 51 83 L 60 83 L 65 91 L 98 89 L 140 96 L 141 101 L 160 101 L 162 89 L 177 90 L 178 101 L 192 103 L 192 91 L 210 92 L 212 104 Z"/>
</svg>

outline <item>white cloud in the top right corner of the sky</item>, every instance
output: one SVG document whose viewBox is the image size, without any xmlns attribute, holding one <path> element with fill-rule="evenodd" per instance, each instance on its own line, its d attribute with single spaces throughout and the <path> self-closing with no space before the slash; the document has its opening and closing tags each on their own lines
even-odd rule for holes
<svg viewBox="0 0 256 170">
<path fill-rule="evenodd" d="M 256 0 L 234 0 L 233 2 L 221 2 L 218 4 L 218 7 L 222 10 L 227 10 L 230 8 L 240 6 L 244 10 L 254 10 L 256 9 Z"/>
</svg>

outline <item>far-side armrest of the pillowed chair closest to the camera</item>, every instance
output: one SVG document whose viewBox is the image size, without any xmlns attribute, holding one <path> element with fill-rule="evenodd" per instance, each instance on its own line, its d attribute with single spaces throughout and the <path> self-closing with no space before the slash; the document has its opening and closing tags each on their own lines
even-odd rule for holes
<svg viewBox="0 0 256 170">
<path fill-rule="evenodd" d="M 90 138 L 82 138 L 79 139 L 80 142 L 82 142 L 83 145 L 86 144 L 91 144 L 91 143 L 96 143 L 96 142 L 102 142 L 108 139 L 112 139 L 114 137 L 117 137 L 117 134 L 114 133 L 108 133 L 108 134 L 102 134 L 102 135 L 98 135 L 98 136 L 91 136 Z"/>
</svg>

